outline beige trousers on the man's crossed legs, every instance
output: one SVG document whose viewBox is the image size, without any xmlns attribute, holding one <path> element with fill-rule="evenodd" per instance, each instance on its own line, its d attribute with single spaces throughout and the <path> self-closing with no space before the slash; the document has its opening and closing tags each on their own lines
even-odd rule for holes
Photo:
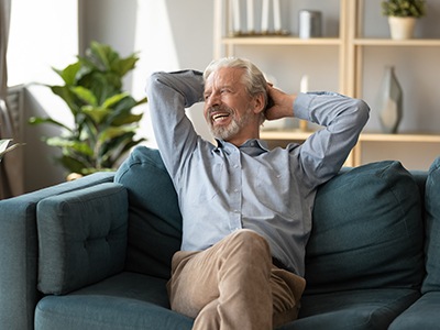
<svg viewBox="0 0 440 330">
<path fill-rule="evenodd" d="M 305 285 L 272 264 L 263 237 L 239 230 L 208 250 L 177 252 L 168 295 L 193 329 L 273 329 L 297 318 Z"/>
</svg>

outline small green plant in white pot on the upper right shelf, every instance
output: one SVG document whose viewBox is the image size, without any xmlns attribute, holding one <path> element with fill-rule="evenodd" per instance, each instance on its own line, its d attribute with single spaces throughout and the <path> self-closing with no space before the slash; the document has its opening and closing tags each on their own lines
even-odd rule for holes
<svg viewBox="0 0 440 330">
<path fill-rule="evenodd" d="M 425 15 L 425 0 L 383 1 L 382 13 L 388 16 L 392 38 L 411 38 L 416 20 Z"/>
</svg>

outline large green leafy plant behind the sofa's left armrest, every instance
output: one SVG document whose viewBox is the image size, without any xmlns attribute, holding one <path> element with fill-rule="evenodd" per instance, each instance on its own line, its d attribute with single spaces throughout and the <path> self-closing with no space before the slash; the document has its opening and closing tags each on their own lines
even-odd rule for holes
<svg viewBox="0 0 440 330">
<path fill-rule="evenodd" d="M 69 172 L 88 175 L 114 170 L 117 163 L 133 146 L 142 113 L 133 108 L 146 102 L 122 90 L 123 77 L 135 67 L 139 57 L 121 58 L 109 45 L 91 42 L 84 57 L 64 69 L 54 69 L 63 86 L 50 86 L 68 106 L 74 118 L 69 128 L 50 117 L 33 117 L 31 124 L 50 123 L 63 130 L 61 136 L 43 138 L 47 145 L 62 148 L 59 163 Z"/>
</svg>

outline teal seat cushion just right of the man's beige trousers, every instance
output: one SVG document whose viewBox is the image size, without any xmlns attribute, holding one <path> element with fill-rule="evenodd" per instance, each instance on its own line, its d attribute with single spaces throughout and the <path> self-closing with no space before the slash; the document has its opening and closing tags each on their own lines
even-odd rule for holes
<svg viewBox="0 0 440 330">
<path fill-rule="evenodd" d="M 280 329 L 387 329 L 419 296 L 414 289 L 364 289 L 306 295 L 301 299 L 299 319 Z"/>
</svg>

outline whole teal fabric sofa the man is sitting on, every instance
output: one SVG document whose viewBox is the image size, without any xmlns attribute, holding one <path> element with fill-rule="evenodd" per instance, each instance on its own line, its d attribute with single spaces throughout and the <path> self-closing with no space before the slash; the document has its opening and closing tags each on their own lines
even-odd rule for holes
<svg viewBox="0 0 440 330">
<path fill-rule="evenodd" d="M 319 188 L 299 319 L 280 329 L 439 327 L 439 166 L 372 163 Z M 1 329 L 190 329 L 165 288 L 180 234 L 173 184 L 144 146 L 116 173 L 1 200 Z"/>
</svg>

